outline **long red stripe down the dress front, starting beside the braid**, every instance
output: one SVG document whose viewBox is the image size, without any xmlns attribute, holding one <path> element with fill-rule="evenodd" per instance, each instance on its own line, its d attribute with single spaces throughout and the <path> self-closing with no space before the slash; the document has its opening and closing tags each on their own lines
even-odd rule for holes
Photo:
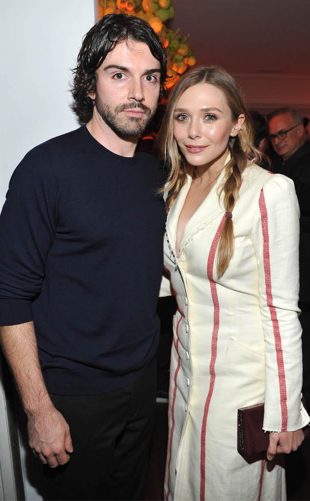
<svg viewBox="0 0 310 501">
<path fill-rule="evenodd" d="M 211 296 L 213 301 L 214 313 L 213 313 L 213 332 L 211 340 L 211 360 L 210 360 L 210 386 L 207 395 L 206 403 L 204 406 L 204 413 L 202 418 L 202 429 L 201 429 L 201 439 L 200 439 L 200 500 L 204 501 L 205 497 L 205 457 L 206 457 L 206 424 L 209 412 L 210 401 L 213 393 L 214 383 L 215 383 L 215 361 L 216 361 L 216 351 L 217 351 L 217 334 L 219 329 L 219 303 L 217 297 L 216 284 L 213 280 L 213 266 L 215 261 L 215 253 L 218 245 L 218 241 L 221 236 L 222 226 L 225 221 L 225 215 L 223 216 L 219 227 L 217 228 L 216 234 L 213 238 L 210 253 L 208 257 L 207 264 L 207 276 L 210 281 Z"/>
</svg>

